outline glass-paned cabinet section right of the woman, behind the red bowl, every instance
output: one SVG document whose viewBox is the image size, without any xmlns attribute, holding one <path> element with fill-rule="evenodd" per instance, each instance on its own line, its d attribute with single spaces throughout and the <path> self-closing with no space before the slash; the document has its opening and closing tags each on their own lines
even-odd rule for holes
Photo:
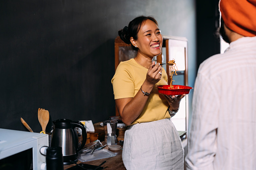
<svg viewBox="0 0 256 170">
<path fill-rule="evenodd" d="M 188 86 L 188 40 L 184 37 L 168 37 L 163 36 L 165 43 L 162 47 L 162 60 L 168 62 L 175 60 L 177 66 L 177 75 L 173 75 L 173 84 Z M 164 65 L 163 68 L 168 74 L 168 84 L 170 84 L 169 66 Z M 181 103 L 180 110 L 172 117 L 172 121 L 177 130 L 181 134 L 186 134 L 189 126 L 189 97 L 186 95 Z M 184 135 L 187 138 L 187 134 Z"/>
</svg>

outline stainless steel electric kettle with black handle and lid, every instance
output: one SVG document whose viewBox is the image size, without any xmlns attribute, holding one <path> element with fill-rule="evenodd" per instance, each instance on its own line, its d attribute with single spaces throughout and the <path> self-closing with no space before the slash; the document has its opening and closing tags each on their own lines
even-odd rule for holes
<svg viewBox="0 0 256 170">
<path fill-rule="evenodd" d="M 58 119 L 53 121 L 53 123 L 55 127 L 52 132 L 51 146 L 62 147 L 64 165 L 77 162 L 78 151 L 86 144 L 86 126 L 79 121 L 72 121 L 69 119 Z M 82 143 L 79 147 L 75 127 L 79 127 L 82 130 Z"/>
</svg>

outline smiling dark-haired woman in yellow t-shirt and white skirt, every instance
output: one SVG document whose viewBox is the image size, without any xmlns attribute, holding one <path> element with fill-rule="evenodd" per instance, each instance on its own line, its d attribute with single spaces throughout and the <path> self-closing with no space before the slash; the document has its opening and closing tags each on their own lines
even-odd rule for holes
<svg viewBox="0 0 256 170">
<path fill-rule="evenodd" d="M 178 111 L 185 94 L 158 93 L 156 85 L 167 84 L 165 70 L 152 62 L 162 50 L 158 24 L 152 17 L 140 16 L 119 36 L 137 51 L 134 59 L 120 62 L 112 79 L 116 106 L 127 125 L 124 165 L 126 169 L 183 169 L 184 150 L 169 111 Z"/>
</svg>

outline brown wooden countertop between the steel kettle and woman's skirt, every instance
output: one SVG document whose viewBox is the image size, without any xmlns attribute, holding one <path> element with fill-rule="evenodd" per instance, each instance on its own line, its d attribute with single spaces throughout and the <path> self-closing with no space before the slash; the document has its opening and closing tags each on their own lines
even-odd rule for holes
<svg viewBox="0 0 256 170">
<path fill-rule="evenodd" d="M 102 142 L 103 143 L 103 142 Z M 121 145 L 118 143 L 118 145 Z M 122 145 L 121 145 L 122 146 Z M 122 146 L 123 147 L 123 146 Z M 105 146 L 104 149 L 109 149 L 108 146 Z M 86 161 L 86 162 L 81 162 L 78 160 L 76 163 L 86 163 L 86 164 L 92 164 L 92 165 L 100 165 L 103 161 L 106 161 L 102 167 L 104 169 L 119 169 L 119 170 L 125 170 L 126 168 L 124 167 L 123 160 L 122 160 L 122 149 L 120 150 L 110 150 L 114 153 L 117 153 L 116 156 L 114 157 L 108 157 L 108 158 L 103 158 L 103 159 L 98 159 L 98 160 L 92 160 L 92 161 Z M 70 164 L 70 165 L 64 165 L 64 169 L 68 169 L 72 166 L 75 166 L 75 164 Z M 82 168 L 80 168 L 82 169 Z"/>
</svg>

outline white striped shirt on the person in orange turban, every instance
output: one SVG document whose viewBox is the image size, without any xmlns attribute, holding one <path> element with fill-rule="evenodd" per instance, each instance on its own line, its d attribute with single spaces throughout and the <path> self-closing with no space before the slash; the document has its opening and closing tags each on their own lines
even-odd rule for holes
<svg viewBox="0 0 256 170">
<path fill-rule="evenodd" d="M 194 87 L 188 169 L 256 169 L 256 37 L 204 61 Z"/>
</svg>

